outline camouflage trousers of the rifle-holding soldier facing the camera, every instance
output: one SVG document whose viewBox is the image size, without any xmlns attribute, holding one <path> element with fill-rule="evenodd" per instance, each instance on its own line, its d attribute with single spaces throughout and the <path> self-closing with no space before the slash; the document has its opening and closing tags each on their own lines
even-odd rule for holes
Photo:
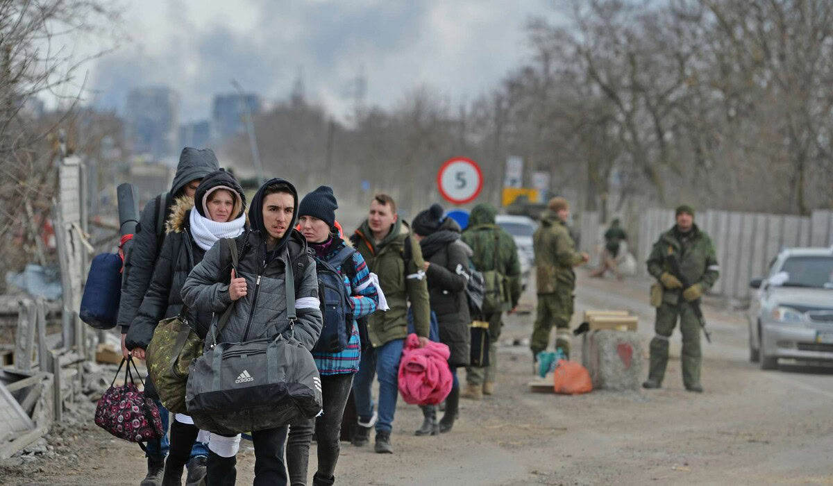
<svg viewBox="0 0 833 486">
<path fill-rule="evenodd" d="M 700 322 L 689 303 L 672 305 L 662 303 L 656 308 L 656 336 L 651 339 L 651 369 L 648 378 L 662 383 L 666 375 L 668 364 L 668 339 L 676 326 L 677 318 L 680 319 L 680 332 L 682 333 L 682 382 L 683 385 L 700 384 Z"/>
</svg>

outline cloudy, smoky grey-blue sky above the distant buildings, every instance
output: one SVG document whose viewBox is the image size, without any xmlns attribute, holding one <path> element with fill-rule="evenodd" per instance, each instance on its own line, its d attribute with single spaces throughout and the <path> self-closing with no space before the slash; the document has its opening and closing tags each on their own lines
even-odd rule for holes
<svg viewBox="0 0 833 486">
<path fill-rule="evenodd" d="M 454 102 L 493 87 L 523 61 L 526 22 L 552 18 L 551 0 L 142 0 L 127 3 L 131 37 L 90 66 L 95 103 L 122 109 L 130 88 L 167 84 L 181 118 L 207 118 L 231 78 L 267 100 L 285 98 L 302 69 L 307 98 L 342 115 L 360 67 L 367 103 L 396 103 L 410 88 Z M 233 5 L 233 7 L 229 7 Z"/>
</svg>

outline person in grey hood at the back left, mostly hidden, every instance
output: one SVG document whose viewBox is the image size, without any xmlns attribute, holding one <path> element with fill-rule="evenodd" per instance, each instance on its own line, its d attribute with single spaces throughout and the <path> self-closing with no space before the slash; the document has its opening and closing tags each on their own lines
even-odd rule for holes
<svg viewBox="0 0 833 486">
<path fill-rule="evenodd" d="M 125 338 L 130 325 L 136 320 L 142 300 L 147 289 L 150 288 L 153 270 L 156 268 L 162 242 L 165 238 L 164 223 L 171 218 L 174 203 L 177 198 L 187 196 L 193 198 L 202 178 L 220 168 L 217 156 L 210 148 L 198 149 L 186 147 L 182 149 L 177 165 L 177 173 L 171 184 L 171 191 L 159 194 L 151 199 L 142 209 L 136 233 L 133 235 L 132 248 L 125 256 L 124 275 L 122 278 L 122 298 L 119 302 L 117 324 L 122 328 L 122 354 L 127 357 Z M 147 387 L 147 393 L 154 397 L 156 394 L 152 386 Z M 160 442 L 147 444 L 147 476 L 141 486 L 159 486 L 162 484 L 162 469 L 168 450 L 167 440 L 167 410 L 162 403 L 157 402 L 162 415 L 162 428 L 166 431 Z M 195 451 L 197 457 L 200 451 Z"/>
</svg>

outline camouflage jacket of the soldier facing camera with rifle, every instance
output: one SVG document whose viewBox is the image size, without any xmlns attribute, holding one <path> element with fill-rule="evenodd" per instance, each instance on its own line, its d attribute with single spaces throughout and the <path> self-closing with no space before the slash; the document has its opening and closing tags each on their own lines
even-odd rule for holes
<svg viewBox="0 0 833 486">
<path fill-rule="evenodd" d="M 666 256 L 676 253 L 680 262 L 680 272 L 691 285 L 700 283 L 705 293 L 720 277 L 715 245 L 711 243 L 709 235 L 697 228 L 696 224 L 689 234 L 689 238 L 681 239 L 674 228 L 662 233 L 648 257 L 648 273 L 654 278 L 660 278 L 662 273 L 669 271 Z M 666 289 L 662 299 L 666 303 L 676 305 L 680 302 L 681 293 L 682 290 Z"/>
</svg>

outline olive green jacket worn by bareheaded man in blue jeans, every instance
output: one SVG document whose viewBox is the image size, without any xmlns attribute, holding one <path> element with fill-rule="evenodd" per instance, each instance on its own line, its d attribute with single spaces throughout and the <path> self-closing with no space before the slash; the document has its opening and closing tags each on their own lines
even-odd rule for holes
<svg viewBox="0 0 833 486">
<path fill-rule="evenodd" d="M 367 321 L 367 333 L 374 348 L 394 339 L 407 337 L 408 301 L 414 314 L 416 335 L 427 338 L 431 322 L 431 304 L 428 302 L 428 281 L 423 268 L 425 261 L 419 243 L 416 243 L 408 224 L 397 218 L 391 233 L 379 243 L 373 241 L 373 233 L 367 221 L 356 230 L 352 243 L 362 253 L 367 268 L 379 277 L 385 294 L 387 312 L 372 313 Z M 407 243 L 406 243 L 406 240 Z M 406 245 L 410 247 L 406 251 Z M 410 253 L 408 261 L 406 253 Z"/>
</svg>

